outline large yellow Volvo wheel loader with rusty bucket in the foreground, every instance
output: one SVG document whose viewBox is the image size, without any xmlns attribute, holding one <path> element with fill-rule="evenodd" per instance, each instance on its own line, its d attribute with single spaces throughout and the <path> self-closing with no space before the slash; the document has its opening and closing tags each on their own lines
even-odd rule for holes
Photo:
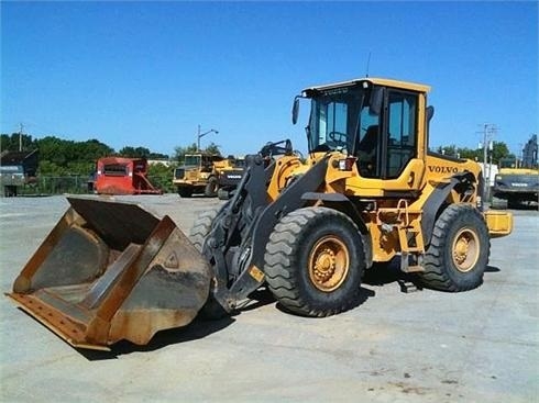
<svg viewBox="0 0 539 403">
<path fill-rule="evenodd" d="M 231 313 L 261 287 L 290 313 L 338 314 L 374 262 L 474 289 L 513 219 L 483 211 L 476 163 L 429 152 L 428 91 L 375 78 L 305 89 L 293 123 L 309 101 L 307 158 L 289 141 L 248 156 L 233 197 L 189 236 L 134 204 L 68 198 L 9 296 L 73 346 L 108 349 Z"/>
</svg>

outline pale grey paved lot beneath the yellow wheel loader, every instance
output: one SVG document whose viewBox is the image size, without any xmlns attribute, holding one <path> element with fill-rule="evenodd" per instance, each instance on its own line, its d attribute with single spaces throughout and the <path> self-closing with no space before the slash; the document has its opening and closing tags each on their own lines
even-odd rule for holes
<svg viewBox="0 0 539 403">
<path fill-rule="evenodd" d="M 133 199 L 184 231 L 219 203 Z M 62 197 L 0 199 L 2 291 L 66 208 Z M 539 215 L 514 213 L 479 289 L 403 293 L 388 269 L 363 286 L 361 306 L 329 318 L 285 314 L 262 295 L 233 317 L 97 354 L 1 299 L 0 401 L 539 401 Z"/>
</svg>

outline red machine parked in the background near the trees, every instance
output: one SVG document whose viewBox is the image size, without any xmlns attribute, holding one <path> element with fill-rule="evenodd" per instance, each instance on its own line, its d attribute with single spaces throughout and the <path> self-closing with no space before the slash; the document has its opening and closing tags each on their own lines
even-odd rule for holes
<svg viewBox="0 0 539 403">
<path fill-rule="evenodd" d="M 105 157 L 97 161 L 95 189 L 99 194 L 162 194 L 147 180 L 145 158 Z"/>
</svg>

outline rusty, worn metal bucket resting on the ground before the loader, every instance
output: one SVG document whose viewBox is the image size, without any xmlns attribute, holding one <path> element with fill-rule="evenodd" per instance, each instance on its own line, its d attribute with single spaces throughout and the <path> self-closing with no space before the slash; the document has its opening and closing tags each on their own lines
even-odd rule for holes
<svg viewBox="0 0 539 403">
<path fill-rule="evenodd" d="M 8 296 L 80 348 L 145 345 L 194 320 L 208 298 L 210 267 L 168 216 L 136 204 L 68 201 Z"/>
</svg>

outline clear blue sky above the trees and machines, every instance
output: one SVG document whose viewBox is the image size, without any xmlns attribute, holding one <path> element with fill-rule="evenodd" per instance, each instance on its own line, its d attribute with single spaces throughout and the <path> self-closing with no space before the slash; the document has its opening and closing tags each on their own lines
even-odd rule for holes
<svg viewBox="0 0 539 403">
<path fill-rule="evenodd" d="M 292 138 L 312 85 L 432 86 L 431 146 L 517 153 L 538 133 L 538 2 L 1 2 L 1 133 L 173 154 L 201 138 L 246 154 Z"/>
</svg>

